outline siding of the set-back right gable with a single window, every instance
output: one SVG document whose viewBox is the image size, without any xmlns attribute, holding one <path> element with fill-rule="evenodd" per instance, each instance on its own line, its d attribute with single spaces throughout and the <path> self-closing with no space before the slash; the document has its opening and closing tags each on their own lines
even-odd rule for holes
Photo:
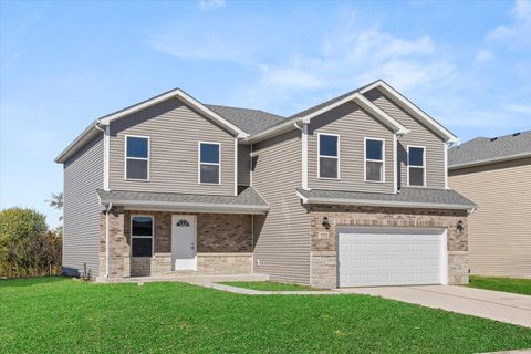
<svg viewBox="0 0 531 354">
<path fill-rule="evenodd" d="M 410 131 L 410 133 L 398 138 L 397 156 L 400 166 L 398 186 L 407 187 L 407 145 L 416 145 L 426 147 L 426 187 L 444 189 L 445 142 L 410 114 L 393 103 L 377 88 L 365 93 L 365 96 Z"/>
</svg>

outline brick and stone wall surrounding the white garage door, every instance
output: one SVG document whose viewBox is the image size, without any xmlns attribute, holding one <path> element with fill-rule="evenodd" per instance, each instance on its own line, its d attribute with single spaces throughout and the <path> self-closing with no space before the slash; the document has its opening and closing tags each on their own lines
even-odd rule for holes
<svg viewBox="0 0 531 354">
<path fill-rule="evenodd" d="M 313 287 L 337 287 L 337 226 L 446 228 L 448 283 L 468 283 L 467 211 L 325 205 L 310 206 L 309 209 L 311 215 L 310 267 Z M 322 226 L 325 216 L 330 222 L 329 230 Z M 324 237 L 325 232 L 329 233 L 327 237 Z"/>
</svg>

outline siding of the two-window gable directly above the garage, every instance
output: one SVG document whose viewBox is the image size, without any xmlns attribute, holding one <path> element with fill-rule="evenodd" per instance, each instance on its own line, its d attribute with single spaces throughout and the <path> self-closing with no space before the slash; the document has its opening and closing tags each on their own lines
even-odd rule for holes
<svg viewBox="0 0 531 354">
<path fill-rule="evenodd" d="M 340 135 L 340 179 L 317 178 L 317 133 Z M 312 119 L 308 129 L 309 187 L 329 190 L 394 192 L 393 133 L 353 102 Z M 385 140 L 385 183 L 364 181 L 365 137 Z"/>
</svg>

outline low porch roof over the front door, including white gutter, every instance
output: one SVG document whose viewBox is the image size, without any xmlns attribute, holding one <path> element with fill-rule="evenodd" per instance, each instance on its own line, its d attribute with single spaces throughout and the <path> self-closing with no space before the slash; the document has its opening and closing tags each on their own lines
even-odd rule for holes
<svg viewBox="0 0 531 354">
<path fill-rule="evenodd" d="M 239 186 L 238 195 L 211 196 L 180 192 L 153 192 L 131 190 L 104 190 L 97 189 L 97 196 L 102 205 L 124 206 L 142 210 L 143 207 L 202 211 L 202 212 L 244 212 L 266 214 L 269 206 L 266 200 L 252 187 Z"/>
</svg>

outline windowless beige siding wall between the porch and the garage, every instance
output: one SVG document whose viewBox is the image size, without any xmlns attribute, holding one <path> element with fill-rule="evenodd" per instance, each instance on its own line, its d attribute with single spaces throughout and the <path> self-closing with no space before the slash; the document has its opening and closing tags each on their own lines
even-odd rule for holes
<svg viewBox="0 0 531 354">
<path fill-rule="evenodd" d="M 252 185 L 270 206 L 267 216 L 253 217 L 254 272 L 308 284 L 310 217 L 295 194 L 301 186 L 301 133 L 285 133 L 252 149 Z"/>
</svg>

